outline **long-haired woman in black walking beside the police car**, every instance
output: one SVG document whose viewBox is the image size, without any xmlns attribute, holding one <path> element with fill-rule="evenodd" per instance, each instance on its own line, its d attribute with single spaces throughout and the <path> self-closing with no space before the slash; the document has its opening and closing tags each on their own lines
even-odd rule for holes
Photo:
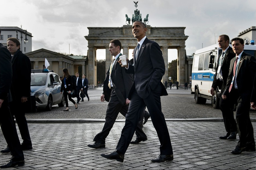
<svg viewBox="0 0 256 170">
<path fill-rule="evenodd" d="M 66 109 L 63 111 L 69 111 L 68 97 L 69 97 L 69 101 L 71 101 L 75 105 L 75 109 L 77 109 L 78 105 L 71 97 L 71 91 L 73 86 L 72 77 L 70 76 L 69 71 L 66 68 L 62 70 L 62 73 L 63 73 L 63 78 L 61 80 L 62 83 L 61 83 L 60 93 L 62 94 L 62 91 L 64 90 L 63 94 L 65 97 L 65 103 L 66 103 Z"/>
</svg>

